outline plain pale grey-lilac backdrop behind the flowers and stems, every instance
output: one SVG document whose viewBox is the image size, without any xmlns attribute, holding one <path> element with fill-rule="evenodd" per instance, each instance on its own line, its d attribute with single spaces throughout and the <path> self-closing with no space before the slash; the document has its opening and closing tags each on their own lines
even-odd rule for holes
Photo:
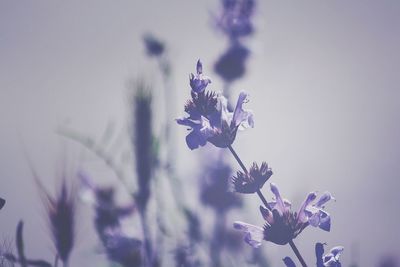
<svg viewBox="0 0 400 267">
<path fill-rule="evenodd" d="M 172 63 L 177 105 L 169 122 L 178 173 L 192 195 L 199 150 L 186 147 L 186 131 L 174 119 L 183 115 L 198 58 L 214 78 L 211 88 L 222 89 L 213 64 L 226 39 L 211 20 L 219 7 L 217 0 L 0 1 L 0 194 L 7 200 L 1 236 L 13 238 L 24 219 L 28 254 L 50 259 L 24 150 L 49 189 L 64 158 L 71 169 L 84 166 L 118 184 L 101 160 L 56 132 L 68 127 L 99 137 L 110 123 L 126 132 L 129 81 L 144 76 L 155 88 L 163 83 L 145 55 L 147 32 L 165 42 Z M 250 93 L 256 126 L 240 133 L 235 147 L 247 164 L 270 164 L 271 181 L 294 207 L 312 190 L 336 197 L 328 206 L 331 233 L 307 229 L 296 239 L 310 262 L 317 241 L 343 245 L 344 266 L 378 266 L 400 255 L 399 14 L 395 0 L 257 1 L 246 76 L 231 87 L 234 98 L 242 89 Z M 246 198 L 245 212 L 230 219 L 260 224 L 258 205 L 256 197 Z M 85 207 L 79 214 L 71 265 L 98 266 L 93 215 Z M 272 266 L 292 255 L 288 246 L 266 242 L 262 250 Z"/>
</svg>

